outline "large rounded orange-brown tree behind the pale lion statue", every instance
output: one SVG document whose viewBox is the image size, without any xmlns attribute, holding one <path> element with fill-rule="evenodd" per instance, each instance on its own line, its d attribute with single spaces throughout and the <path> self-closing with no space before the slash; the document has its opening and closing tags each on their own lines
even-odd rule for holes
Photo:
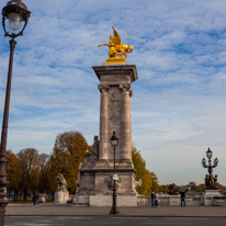
<svg viewBox="0 0 226 226">
<path fill-rule="evenodd" d="M 56 137 L 54 152 L 50 156 L 50 178 L 60 172 L 72 193 L 77 189 L 79 165 L 83 161 L 84 152 L 88 149 L 87 140 L 79 132 L 65 132 Z M 56 180 L 52 182 L 50 190 L 56 189 Z"/>
</svg>

